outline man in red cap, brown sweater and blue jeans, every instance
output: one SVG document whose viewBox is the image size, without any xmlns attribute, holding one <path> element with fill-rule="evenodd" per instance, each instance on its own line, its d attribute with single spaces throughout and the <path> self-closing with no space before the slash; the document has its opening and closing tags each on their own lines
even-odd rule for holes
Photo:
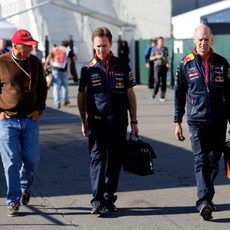
<svg viewBox="0 0 230 230">
<path fill-rule="evenodd" d="M 12 36 L 12 50 L 0 56 L 0 153 L 10 216 L 27 205 L 39 161 L 38 120 L 45 109 L 47 85 L 41 61 L 30 55 L 38 42 L 27 30 Z"/>
</svg>

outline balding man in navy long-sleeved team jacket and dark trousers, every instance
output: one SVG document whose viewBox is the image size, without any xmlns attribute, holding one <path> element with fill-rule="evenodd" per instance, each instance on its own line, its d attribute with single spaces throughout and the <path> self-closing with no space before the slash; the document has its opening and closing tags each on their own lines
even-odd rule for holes
<svg viewBox="0 0 230 230">
<path fill-rule="evenodd" d="M 180 63 L 175 85 L 175 135 L 183 141 L 182 117 L 187 100 L 187 122 L 191 135 L 197 181 L 197 209 L 204 220 L 216 210 L 214 180 L 230 120 L 228 61 L 213 52 L 212 32 L 206 25 L 195 30 L 195 48 Z"/>
</svg>

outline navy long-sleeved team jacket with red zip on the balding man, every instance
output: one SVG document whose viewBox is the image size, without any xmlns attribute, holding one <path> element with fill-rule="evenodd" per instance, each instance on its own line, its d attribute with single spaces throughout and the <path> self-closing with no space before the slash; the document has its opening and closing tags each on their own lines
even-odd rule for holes
<svg viewBox="0 0 230 230">
<path fill-rule="evenodd" d="M 205 59 L 195 49 L 187 55 L 177 69 L 174 122 L 182 122 L 186 100 L 188 123 L 226 123 L 230 119 L 228 61 L 212 50 Z"/>
</svg>

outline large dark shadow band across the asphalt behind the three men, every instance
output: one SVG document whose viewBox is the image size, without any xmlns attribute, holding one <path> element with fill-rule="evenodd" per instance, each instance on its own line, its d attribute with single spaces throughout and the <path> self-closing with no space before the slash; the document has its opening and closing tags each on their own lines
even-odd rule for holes
<svg viewBox="0 0 230 230">
<path fill-rule="evenodd" d="M 195 186 L 190 151 L 154 139 L 142 139 L 149 142 L 156 151 L 155 174 L 141 177 L 122 171 L 118 191 Z M 39 191 L 38 195 L 56 197 L 91 194 L 87 138 L 81 134 L 78 116 L 47 108 L 40 125 L 40 152 L 34 185 Z M 218 176 L 217 184 L 227 184 L 222 162 L 219 174 L 221 176 Z M 2 166 L 0 184 L 0 196 L 4 197 L 6 190 Z"/>
</svg>

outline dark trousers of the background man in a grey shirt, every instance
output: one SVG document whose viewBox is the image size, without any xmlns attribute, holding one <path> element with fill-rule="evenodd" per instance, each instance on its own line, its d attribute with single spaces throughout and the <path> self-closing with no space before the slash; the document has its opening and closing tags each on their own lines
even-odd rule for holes
<svg viewBox="0 0 230 230">
<path fill-rule="evenodd" d="M 161 98 L 164 98 L 166 93 L 167 71 L 168 69 L 165 65 L 154 66 L 155 86 L 153 94 L 157 95 L 161 86 Z"/>
</svg>

